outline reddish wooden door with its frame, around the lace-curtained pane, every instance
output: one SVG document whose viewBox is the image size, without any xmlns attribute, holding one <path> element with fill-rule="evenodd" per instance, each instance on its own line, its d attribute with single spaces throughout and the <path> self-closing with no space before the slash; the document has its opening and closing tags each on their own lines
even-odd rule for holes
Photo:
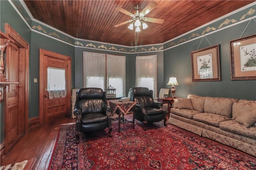
<svg viewBox="0 0 256 170">
<path fill-rule="evenodd" d="M 71 96 L 71 69 L 70 57 L 53 53 L 40 49 L 40 122 L 46 123 L 65 117 L 71 113 L 70 111 L 70 96 Z M 66 87 L 65 97 L 50 97 L 49 75 L 48 72 L 52 70 L 60 70 L 64 72 L 64 81 Z M 60 76 L 61 77 L 61 76 Z M 57 78 L 61 79 L 60 77 Z M 48 81 L 49 80 L 49 81 Z M 57 82 L 58 83 L 58 82 Z M 54 84 L 55 85 L 55 84 Z M 57 86 L 57 85 L 56 85 Z M 42 101 L 42 102 L 41 102 Z"/>
</svg>

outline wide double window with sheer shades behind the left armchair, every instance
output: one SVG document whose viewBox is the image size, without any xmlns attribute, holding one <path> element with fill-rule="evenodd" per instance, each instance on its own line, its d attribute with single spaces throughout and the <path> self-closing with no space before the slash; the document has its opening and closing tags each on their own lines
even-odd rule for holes
<svg viewBox="0 0 256 170">
<path fill-rule="evenodd" d="M 125 56 L 84 52 L 84 87 L 112 86 L 117 97 L 125 96 Z"/>
</svg>

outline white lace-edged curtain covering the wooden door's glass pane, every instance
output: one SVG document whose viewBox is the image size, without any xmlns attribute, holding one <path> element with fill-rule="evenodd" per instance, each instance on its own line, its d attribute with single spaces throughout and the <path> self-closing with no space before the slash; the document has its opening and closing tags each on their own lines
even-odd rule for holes
<svg viewBox="0 0 256 170">
<path fill-rule="evenodd" d="M 47 90 L 49 93 L 49 99 L 66 96 L 65 71 L 65 69 L 60 68 L 47 68 Z"/>
</svg>

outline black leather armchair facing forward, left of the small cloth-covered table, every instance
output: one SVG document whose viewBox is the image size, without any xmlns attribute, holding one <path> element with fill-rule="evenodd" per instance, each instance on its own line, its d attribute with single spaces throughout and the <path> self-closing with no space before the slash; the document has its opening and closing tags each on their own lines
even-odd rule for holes
<svg viewBox="0 0 256 170">
<path fill-rule="evenodd" d="M 108 135 L 112 136 L 111 108 L 106 104 L 106 92 L 102 89 L 79 89 L 76 92 L 74 115 L 77 132 L 91 133 L 108 127 Z"/>
</svg>

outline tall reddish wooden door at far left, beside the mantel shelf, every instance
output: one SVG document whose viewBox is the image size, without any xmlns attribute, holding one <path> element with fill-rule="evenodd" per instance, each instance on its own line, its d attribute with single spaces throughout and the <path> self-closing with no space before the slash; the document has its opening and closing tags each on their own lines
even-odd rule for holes
<svg viewBox="0 0 256 170">
<path fill-rule="evenodd" d="M 8 81 L 19 81 L 19 48 L 9 43 L 6 58 L 6 78 Z M 20 109 L 19 109 L 19 84 L 10 84 L 6 87 L 6 145 L 12 146 L 20 136 Z"/>
</svg>

